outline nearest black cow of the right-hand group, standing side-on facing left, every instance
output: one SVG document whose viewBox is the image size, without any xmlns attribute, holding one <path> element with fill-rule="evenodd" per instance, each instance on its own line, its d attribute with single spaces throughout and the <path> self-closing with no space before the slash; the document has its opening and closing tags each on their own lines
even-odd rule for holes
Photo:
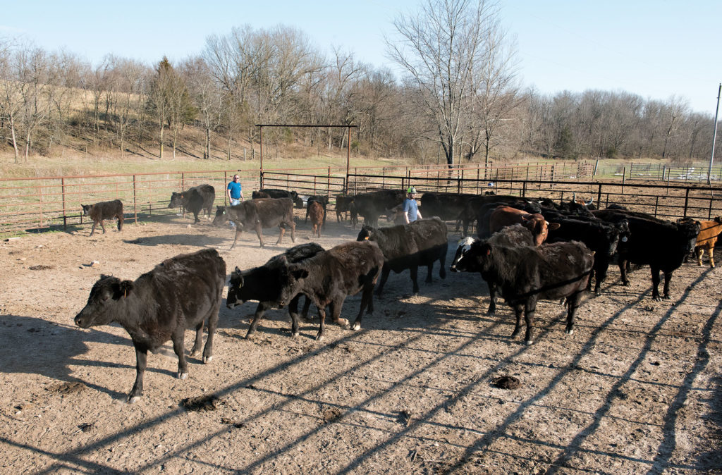
<svg viewBox="0 0 722 475">
<path fill-rule="evenodd" d="M 512 337 L 526 322 L 526 344 L 534 343 L 532 328 L 536 301 L 567 299 L 567 334 L 574 332 L 574 314 L 587 287 L 593 253 L 582 243 L 554 243 L 509 248 L 475 241 L 456 262 L 458 271 L 482 272 L 501 288 L 502 297 L 516 313 Z"/>
</svg>

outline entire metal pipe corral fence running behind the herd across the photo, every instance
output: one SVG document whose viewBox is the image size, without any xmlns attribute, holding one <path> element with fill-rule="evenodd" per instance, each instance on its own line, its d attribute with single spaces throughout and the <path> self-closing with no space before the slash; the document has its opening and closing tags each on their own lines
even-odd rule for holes
<svg viewBox="0 0 722 475">
<path fill-rule="evenodd" d="M 708 219 L 722 214 L 722 188 L 699 184 L 648 184 L 627 180 L 625 174 L 612 183 L 593 181 L 596 163 L 527 163 L 504 167 L 461 167 L 438 165 L 323 167 L 298 170 L 201 170 L 171 173 L 135 173 L 94 176 L 41 178 L 0 178 L 0 233 L 28 230 L 66 230 L 87 225 L 80 204 L 121 199 L 126 220 L 138 221 L 159 214 L 175 214 L 168 209 L 170 194 L 203 183 L 216 189 L 215 204 L 227 204 L 225 188 L 233 174 L 241 176 L 246 198 L 261 188 L 295 190 L 302 195 L 326 195 L 334 205 L 338 193 L 361 193 L 380 188 L 404 189 L 409 185 L 424 191 L 475 193 L 493 190 L 497 194 L 547 196 L 570 199 L 578 193 L 606 206 L 617 203 L 661 217 Z M 637 170 L 634 165 L 633 170 Z M 665 169 L 674 170 L 674 169 Z M 659 175 L 660 178 L 662 175 Z M 586 180 L 585 180 L 586 179 Z M 627 180 L 625 182 L 625 180 Z"/>
</svg>

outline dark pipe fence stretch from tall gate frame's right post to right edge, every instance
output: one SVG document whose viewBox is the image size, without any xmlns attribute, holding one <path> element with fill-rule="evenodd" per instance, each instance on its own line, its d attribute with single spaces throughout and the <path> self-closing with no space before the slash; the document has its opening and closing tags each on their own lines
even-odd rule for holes
<svg viewBox="0 0 722 475">
<path fill-rule="evenodd" d="M 349 188 L 355 193 L 379 188 L 417 188 L 418 193 L 483 194 L 550 198 L 569 201 L 577 198 L 593 199 L 600 208 L 620 204 L 632 211 L 652 214 L 664 219 L 692 217 L 710 219 L 722 215 L 722 187 L 701 185 L 666 185 L 666 183 L 602 183 L 595 181 L 510 180 L 504 178 L 448 179 L 433 176 L 349 175 Z"/>
</svg>

